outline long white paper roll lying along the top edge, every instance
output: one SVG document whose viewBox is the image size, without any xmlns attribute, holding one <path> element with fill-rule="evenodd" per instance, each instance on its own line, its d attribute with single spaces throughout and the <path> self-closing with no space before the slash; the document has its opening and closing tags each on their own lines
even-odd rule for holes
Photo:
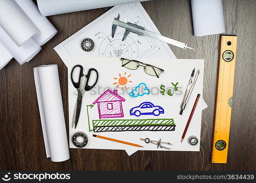
<svg viewBox="0 0 256 183">
<path fill-rule="evenodd" d="M 50 16 L 141 1 L 148 0 L 37 0 L 37 5 L 43 16 Z"/>
</svg>

